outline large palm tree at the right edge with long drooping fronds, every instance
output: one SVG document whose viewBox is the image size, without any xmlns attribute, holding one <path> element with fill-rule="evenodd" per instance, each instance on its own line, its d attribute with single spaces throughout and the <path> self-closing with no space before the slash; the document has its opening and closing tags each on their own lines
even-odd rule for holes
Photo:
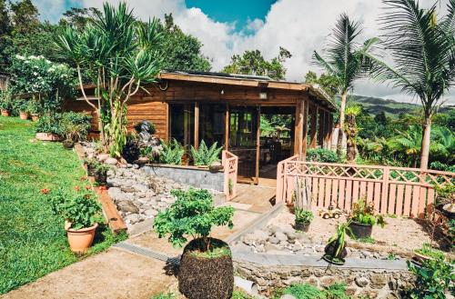
<svg viewBox="0 0 455 299">
<path fill-rule="evenodd" d="M 389 14 L 382 16 L 385 50 L 394 61 L 388 65 L 365 52 L 371 75 L 405 93 L 417 95 L 423 108 L 420 168 L 427 169 L 430 153 L 431 117 L 455 78 L 455 0 L 438 19 L 437 4 L 428 10 L 415 0 L 384 0 Z"/>
</svg>

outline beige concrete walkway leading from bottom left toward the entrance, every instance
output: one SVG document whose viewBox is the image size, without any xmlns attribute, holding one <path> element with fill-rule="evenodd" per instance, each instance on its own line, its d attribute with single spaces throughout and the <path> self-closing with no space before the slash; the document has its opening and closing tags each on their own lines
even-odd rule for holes
<svg viewBox="0 0 455 299">
<path fill-rule="evenodd" d="M 258 211 L 266 211 L 266 206 L 252 203 L 244 210 L 240 205 L 234 214 L 234 229 L 218 227 L 214 229 L 213 236 L 227 239 L 232 234 L 238 234 L 254 223 L 261 216 Z M 159 239 L 151 231 L 151 224 L 144 226 L 142 230 L 147 233 L 130 237 L 123 244 L 113 246 L 102 254 L 47 274 L 0 298 L 150 299 L 177 282 L 173 272 L 175 267 L 165 260 L 167 257 L 177 257 L 182 249 L 173 248 L 167 239 Z"/>
</svg>

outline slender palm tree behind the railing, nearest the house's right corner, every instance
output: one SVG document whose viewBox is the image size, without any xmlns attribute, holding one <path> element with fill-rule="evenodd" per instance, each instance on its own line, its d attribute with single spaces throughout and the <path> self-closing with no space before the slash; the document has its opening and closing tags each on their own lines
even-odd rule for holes
<svg viewBox="0 0 455 299">
<path fill-rule="evenodd" d="M 364 53 L 369 53 L 371 47 L 379 41 L 378 38 L 372 38 L 363 45 L 358 45 L 355 40 L 360 32 L 359 23 L 351 21 L 346 14 L 340 15 L 329 39 L 325 57 L 316 51 L 313 54 L 315 63 L 322 67 L 328 75 L 335 78 L 339 95 L 341 95 L 340 129 L 337 142 L 337 154 L 339 156 L 341 156 L 348 93 L 353 89 L 354 81 L 364 75 Z"/>
</svg>

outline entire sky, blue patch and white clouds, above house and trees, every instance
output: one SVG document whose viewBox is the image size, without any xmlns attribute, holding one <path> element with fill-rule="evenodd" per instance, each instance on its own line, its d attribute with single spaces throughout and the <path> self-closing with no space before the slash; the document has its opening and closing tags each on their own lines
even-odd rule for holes
<svg viewBox="0 0 455 299">
<path fill-rule="evenodd" d="M 101 7 L 105 0 L 33 0 L 41 18 L 57 22 L 71 6 Z M 117 4 L 119 0 L 108 0 Z M 420 0 L 428 7 L 434 0 Z M 444 10 L 449 0 L 441 0 Z M 285 63 L 288 81 L 300 82 L 308 70 L 320 73 L 311 63 L 314 50 L 323 51 L 337 17 L 347 13 L 363 27 L 359 41 L 380 35 L 378 17 L 381 0 L 128 0 L 134 14 L 147 20 L 172 13 L 177 25 L 195 35 L 203 44 L 202 52 L 212 60 L 212 71 L 219 71 L 230 57 L 246 50 L 259 49 L 271 59 L 278 55 L 279 46 L 290 51 Z M 356 82 L 354 94 L 378 96 L 400 102 L 419 103 L 388 85 L 369 80 Z M 445 100 L 455 105 L 455 91 Z"/>
</svg>

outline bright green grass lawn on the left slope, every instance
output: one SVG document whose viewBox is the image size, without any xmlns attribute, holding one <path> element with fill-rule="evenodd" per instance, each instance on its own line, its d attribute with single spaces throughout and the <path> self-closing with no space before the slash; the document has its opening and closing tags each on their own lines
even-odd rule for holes
<svg viewBox="0 0 455 299">
<path fill-rule="evenodd" d="M 34 142 L 34 135 L 30 122 L 0 116 L 0 294 L 125 237 L 101 225 L 86 255 L 69 250 L 64 219 L 52 213 L 40 190 L 62 187 L 69 192 L 85 173 L 76 153 L 59 143 Z"/>
</svg>

